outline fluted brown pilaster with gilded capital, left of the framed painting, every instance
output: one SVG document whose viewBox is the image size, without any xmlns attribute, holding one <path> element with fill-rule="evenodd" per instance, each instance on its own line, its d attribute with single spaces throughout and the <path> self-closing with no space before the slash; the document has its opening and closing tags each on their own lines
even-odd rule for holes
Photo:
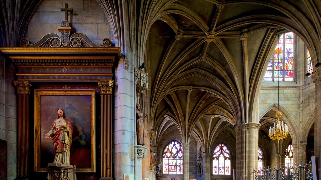
<svg viewBox="0 0 321 180">
<path fill-rule="evenodd" d="M 28 179 L 29 175 L 29 96 L 31 83 L 28 80 L 14 80 L 18 93 L 18 138 L 17 138 L 17 180 Z"/>
</svg>

